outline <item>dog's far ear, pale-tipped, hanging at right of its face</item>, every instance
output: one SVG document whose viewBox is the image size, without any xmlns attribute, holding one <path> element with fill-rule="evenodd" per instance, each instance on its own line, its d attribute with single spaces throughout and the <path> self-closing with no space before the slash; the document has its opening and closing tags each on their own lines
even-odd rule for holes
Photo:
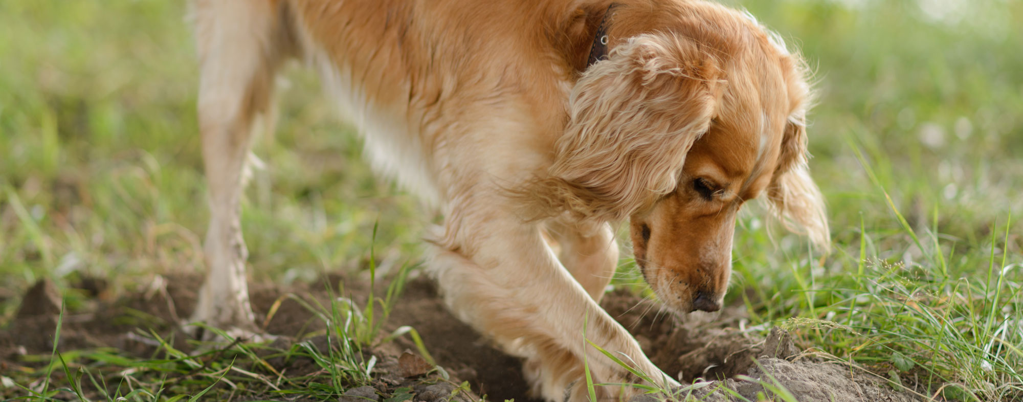
<svg viewBox="0 0 1023 402">
<path fill-rule="evenodd" d="M 825 252 L 831 234 L 824 196 L 806 166 L 806 120 L 799 110 L 789 118 L 782 137 L 777 168 L 767 188 L 767 199 L 786 229 L 806 234 Z"/>
</svg>

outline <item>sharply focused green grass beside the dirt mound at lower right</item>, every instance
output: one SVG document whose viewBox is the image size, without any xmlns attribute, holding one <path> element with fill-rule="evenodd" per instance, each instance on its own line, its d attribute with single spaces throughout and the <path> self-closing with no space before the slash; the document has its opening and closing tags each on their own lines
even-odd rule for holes
<svg viewBox="0 0 1023 402">
<path fill-rule="evenodd" d="M 818 289 L 834 302 L 817 314 L 785 325 L 808 330 L 816 348 L 841 360 L 894 370 L 932 397 L 1023 398 L 1019 266 L 989 258 L 986 278 L 924 268 L 875 260 L 864 274 Z"/>
</svg>

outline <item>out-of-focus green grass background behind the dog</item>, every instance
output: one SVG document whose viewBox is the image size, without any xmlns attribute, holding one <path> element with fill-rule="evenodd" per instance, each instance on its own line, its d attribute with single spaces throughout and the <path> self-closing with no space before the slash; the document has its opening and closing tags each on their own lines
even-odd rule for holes
<svg viewBox="0 0 1023 402">
<path fill-rule="evenodd" d="M 1023 2 L 729 4 L 813 66 L 810 165 L 837 249 L 809 264 L 820 256 L 750 209 L 735 255 L 739 286 L 759 293 L 751 311 L 812 305 L 760 308 L 806 278 L 862 272 L 859 256 L 953 277 L 988 274 L 989 254 L 1021 261 Z M 203 270 L 195 64 L 186 2 L 0 2 L 0 322 L 40 277 L 122 292 Z M 418 261 L 430 218 L 417 202 L 371 174 L 308 71 L 296 63 L 279 84 L 277 129 L 255 146 L 267 167 L 244 202 L 252 277 L 359 269 L 370 243 L 382 260 Z"/>
</svg>

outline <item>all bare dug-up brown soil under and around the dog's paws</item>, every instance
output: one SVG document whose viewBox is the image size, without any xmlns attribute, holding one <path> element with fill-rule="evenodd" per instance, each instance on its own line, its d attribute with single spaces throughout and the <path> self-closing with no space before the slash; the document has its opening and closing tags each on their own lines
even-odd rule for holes
<svg viewBox="0 0 1023 402">
<path fill-rule="evenodd" d="M 188 351 L 191 345 L 185 342 L 187 336 L 175 323 L 190 314 L 201 282 L 202 277 L 195 275 L 158 276 L 144 292 L 114 299 L 101 281 L 83 280 L 76 286 L 92 299 L 78 311 L 64 314 L 58 348 L 68 351 L 113 347 L 138 356 L 149 356 L 153 346 L 133 334 L 133 330 L 151 327 L 170 337 L 176 348 Z M 280 301 L 276 313 L 266 322 L 267 332 L 281 336 L 272 346 L 286 349 L 290 343 L 303 334 L 323 329 L 322 321 L 307 308 L 282 296 L 292 294 L 325 305 L 329 301 L 327 283 L 333 288 L 343 283 L 345 291 L 342 296 L 359 303 L 366 300 L 368 286 L 365 281 L 344 281 L 337 276 L 328 278 L 326 283 L 293 288 L 259 284 L 250 287 L 253 308 L 260 317 L 266 317 L 275 302 Z M 727 378 L 737 374 L 758 377 L 766 371 L 783 385 L 795 388 L 793 392 L 797 393 L 797 397 L 800 397 L 800 400 L 831 400 L 816 399 L 818 395 L 832 395 L 836 401 L 909 400 L 863 375 L 855 381 L 849 379 L 848 368 L 807 360 L 784 360 L 797 353 L 788 336 L 774 330 L 765 340 L 757 332 L 740 330 L 743 315 L 738 308 L 725 309 L 716 315 L 681 316 L 662 311 L 656 304 L 624 292 L 607 295 L 602 305 L 636 337 L 643 351 L 658 366 L 669 375 L 680 378 L 683 384 L 697 378 L 725 381 L 725 387 L 755 399 L 756 392 L 762 391 L 762 388 L 757 388 L 759 385 Z M 21 361 L 25 355 L 48 355 L 53 348 L 52 333 L 57 321 L 55 312 L 59 311 L 55 286 L 48 281 L 37 283 L 25 293 L 21 306 L 16 317 L 0 329 L 0 372 L 8 363 L 26 365 Z M 495 349 L 451 315 L 430 280 L 416 278 L 407 283 L 384 332 L 389 333 L 401 325 L 410 325 L 418 331 L 427 350 L 439 365 L 445 367 L 452 382 L 470 382 L 472 390 L 478 395 L 486 395 L 488 400 L 534 401 L 526 395 L 528 387 L 522 377 L 520 361 Z M 326 348 L 324 337 L 313 338 L 312 341 L 319 349 Z M 426 381 L 420 376 L 421 372 L 404 375 L 425 363 L 414 354 L 403 354 L 406 349 L 416 350 L 408 336 L 371 351 L 380 361 L 376 371 L 381 379 L 374 385 L 375 390 L 388 395 L 400 387 L 411 387 L 416 394 L 416 402 L 433 401 L 431 396 L 436 396 L 437 400 L 450 396 L 454 386 L 437 381 L 436 372 L 428 375 Z M 754 358 L 765 363 L 755 367 Z M 285 361 L 276 358 L 268 362 L 277 369 L 287 369 L 290 373 L 315 369 L 311 361 L 302 359 Z M 833 375 L 829 377 L 829 373 Z M 351 399 L 354 402 L 360 399 L 360 392 L 367 391 L 352 392 L 354 396 L 343 397 L 342 400 Z M 368 394 L 371 393 L 369 390 Z M 708 400 L 722 398 L 720 392 L 706 395 L 706 391 L 697 391 L 696 394 Z M 871 398 L 864 399 L 865 396 Z M 462 394 L 458 399 L 473 397 Z"/>
</svg>

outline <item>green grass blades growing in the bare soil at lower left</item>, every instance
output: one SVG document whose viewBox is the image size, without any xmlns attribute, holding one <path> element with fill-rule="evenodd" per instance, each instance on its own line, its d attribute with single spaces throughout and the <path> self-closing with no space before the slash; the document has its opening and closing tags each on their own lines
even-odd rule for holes
<svg viewBox="0 0 1023 402">
<path fill-rule="evenodd" d="M 307 336 L 307 339 L 290 346 L 286 350 L 275 349 L 265 344 L 251 344 L 234 339 L 225 331 L 196 323 L 204 329 L 226 341 L 214 348 L 199 348 L 196 352 L 185 353 L 173 346 L 173 341 L 161 337 L 155 331 L 136 332 L 134 339 L 157 347 L 151 358 L 138 358 L 114 349 L 76 350 L 61 352 L 60 324 L 54 334 L 52 355 L 45 359 L 27 356 L 25 361 L 34 359 L 46 363 L 36 370 L 28 370 L 13 378 L 6 377 L 11 387 L 25 392 L 15 399 L 56 401 L 69 396 L 78 400 L 106 401 L 178 401 L 184 398 L 227 398 L 229 396 L 302 396 L 322 399 L 338 397 L 346 390 L 368 385 L 372 382 L 372 370 L 376 357 L 371 349 L 396 337 L 411 333 L 420 352 L 433 364 L 432 357 L 411 327 L 401 327 L 393 333 L 381 331 L 391 309 L 400 296 L 401 286 L 413 266 L 406 265 L 395 273 L 395 279 L 388 285 L 387 297 L 365 301 L 366 308 L 360 309 L 351 298 L 332 297 L 327 305 L 309 301 L 296 295 L 285 295 L 281 300 L 293 300 L 304 306 L 323 321 L 325 329 Z M 279 300 L 278 300 L 279 302 Z M 375 302 L 375 303 L 374 303 Z M 371 313 L 377 310 L 382 314 Z M 375 316 L 374 320 L 368 317 Z M 62 322 L 63 312 L 60 314 Z M 314 343 L 322 336 L 325 348 Z M 278 370 L 268 362 L 271 358 L 281 358 L 286 362 L 297 358 L 308 358 L 318 370 L 308 373 L 288 373 Z M 56 377 L 59 368 L 62 377 Z M 107 384 L 116 381 L 116 384 Z M 51 384 L 60 384 L 51 387 Z M 15 394 L 16 395 L 16 394 Z"/>
</svg>

